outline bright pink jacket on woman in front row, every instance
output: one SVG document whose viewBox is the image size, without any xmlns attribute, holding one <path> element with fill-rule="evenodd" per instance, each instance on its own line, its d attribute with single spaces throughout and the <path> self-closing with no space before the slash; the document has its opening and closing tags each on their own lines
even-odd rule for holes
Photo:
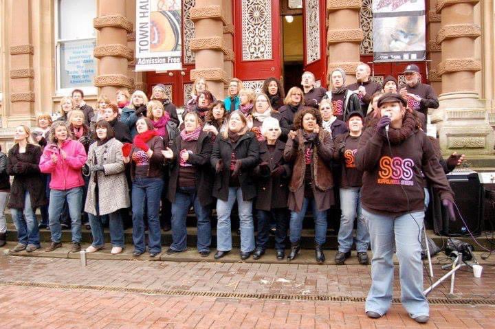
<svg viewBox="0 0 495 329">
<path fill-rule="evenodd" d="M 61 150 L 67 157 L 63 159 Z M 56 155 L 58 161 L 53 163 L 52 154 Z M 43 150 L 40 160 L 40 170 L 45 174 L 52 174 L 50 188 L 52 190 L 70 190 L 84 186 L 81 168 L 86 162 L 86 151 L 83 144 L 72 139 L 67 139 L 59 148 L 57 144 L 48 144 Z"/>
</svg>

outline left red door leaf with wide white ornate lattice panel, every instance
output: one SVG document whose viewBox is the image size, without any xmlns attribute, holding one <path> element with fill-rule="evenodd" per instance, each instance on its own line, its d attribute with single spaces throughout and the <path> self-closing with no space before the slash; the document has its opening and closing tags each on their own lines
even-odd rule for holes
<svg viewBox="0 0 495 329">
<path fill-rule="evenodd" d="M 281 77 L 281 27 L 278 1 L 233 0 L 234 76 L 259 82 Z"/>
</svg>

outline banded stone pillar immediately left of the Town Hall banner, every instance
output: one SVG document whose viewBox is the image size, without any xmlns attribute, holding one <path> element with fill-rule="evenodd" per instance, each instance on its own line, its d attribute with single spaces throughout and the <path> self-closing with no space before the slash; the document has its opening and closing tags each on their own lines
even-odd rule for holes
<svg viewBox="0 0 495 329">
<path fill-rule="evenodd" d="M 126 19 L 126 3 L 122 0 L 98 1 L 98 17 L 93 21 L 99 31 L 94 56 L 98 58 L 98 76 L 94 84 L 98 94 L 115 101 L 118 89 L 134 88 L 133 78 L 127 76 L 127 65 L 134 54 L 127 47 L 127 34 L 133 32 L 133 24 Z"/>
</svg>

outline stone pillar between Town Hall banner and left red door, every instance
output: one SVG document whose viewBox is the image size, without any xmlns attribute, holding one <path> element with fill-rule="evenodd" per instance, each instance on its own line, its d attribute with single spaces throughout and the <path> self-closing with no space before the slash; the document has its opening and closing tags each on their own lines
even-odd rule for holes
<svg viewBox="0 0 495 329">
<path fill-rule="evenodd" d="M 192 81 L 205 78 L 213 95 L 223 95 L 228 82 L 223 60 L 228 50 L 223 39 L 225 10 L 223 0 L 196 0 L 190 10 L 190 19 L 195 22 L 195 38 L 190 39 L 190 49 L 195 52 L 195 69 L 190 71 Z"/>
</svg>

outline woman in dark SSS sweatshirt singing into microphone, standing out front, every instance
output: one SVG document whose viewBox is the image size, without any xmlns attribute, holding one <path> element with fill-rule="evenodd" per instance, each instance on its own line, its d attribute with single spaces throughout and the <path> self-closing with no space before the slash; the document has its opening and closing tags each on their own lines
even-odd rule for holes
<svg viewBox="0 0 495 329">
<path fill-rule="evenodd" d="M 426 323 L 429 309 L 423 294 L 419 240 L 425 198 L 421 172 L 437 188 L 451 216 L 452 190 L 430 140 L 417 128 L 415 117 L 406 111 L 406 100 L 397 93 L 382 95 L 378 110 L 375 123 L 364 131 L 355 155 L 355 166 L 363 172 L 362 211 L 373 251 L 366 315 L 382 317 L 391 306 L 395 252 L 399 259 L 401 302 L 412 319 Z"/>
</svg>

